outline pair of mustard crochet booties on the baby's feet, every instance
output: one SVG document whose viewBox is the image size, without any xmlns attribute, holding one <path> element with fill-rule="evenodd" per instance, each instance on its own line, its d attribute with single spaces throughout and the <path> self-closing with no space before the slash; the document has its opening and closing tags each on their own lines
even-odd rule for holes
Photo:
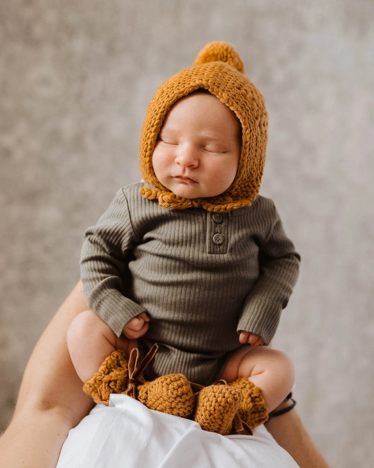
<svg viewBox="0 0 374 468">
<path fill-rule="evenodd" d="M 83 390 L 95 403 L 106 406 L 112 393 L 124 394 L 129 380 L 128 363 L 122 350 L 112 351 Z M 196 398 L 187 378 L 169 374 L 151 382 L 138 377 L 137 397 L 156 411 L 179 417 L 194 416 L 201 429 L 218 434 L 230 434 L 236 412 L 252 429 L 266 422 L 268 415 L 261 390 L 245 377 L 229 385 L 210 385 L 200 390 Z"/>
</svg>

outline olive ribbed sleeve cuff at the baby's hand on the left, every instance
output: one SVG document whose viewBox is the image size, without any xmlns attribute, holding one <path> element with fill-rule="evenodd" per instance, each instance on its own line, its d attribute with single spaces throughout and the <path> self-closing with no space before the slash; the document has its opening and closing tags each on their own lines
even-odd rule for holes
<svg viewBox="0 0 374 468">
<path fill-rule="evenodd" d="M 137 315 L 146 312 L 133 300 L 122 296 L 119 291 L 108 292 L 94 307 L 96 315 L 103 320 L 119 337 L 123 327 Z"/>
</svg>

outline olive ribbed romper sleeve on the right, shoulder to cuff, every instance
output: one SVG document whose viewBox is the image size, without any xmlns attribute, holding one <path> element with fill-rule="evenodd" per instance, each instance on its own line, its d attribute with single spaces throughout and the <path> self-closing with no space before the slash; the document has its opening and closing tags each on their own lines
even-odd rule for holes
<svg viewBox="0 0 374 468">
<path fill-rule="evenodd" d="M 269 344 L 278 328 L 295 286 L 300 256 L 286 236 L 280 216 L 272 203 L 271 230 L 259 245 L 259 278 L 245 300 L 237 331 L 255 333 Z M 267 210 L 269 212 L 269 210 Z M 259 212 L 259 216 L 265 213 Z M 264 217 L 266 219 L 266 217 Z"/>
</svg>

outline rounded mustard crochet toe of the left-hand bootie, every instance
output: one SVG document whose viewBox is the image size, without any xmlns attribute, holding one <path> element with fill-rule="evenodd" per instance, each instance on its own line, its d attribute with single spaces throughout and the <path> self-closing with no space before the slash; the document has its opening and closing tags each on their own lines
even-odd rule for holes
<svg viewBox="0 0 374 468">
<path fill-rule="evenodd" d="M 194 410 L 194 393 L 183 374 L 162 375 L 137 386 L 137 396 L 149 409 L 173 416 L 189 417 Z"/>
</svg>

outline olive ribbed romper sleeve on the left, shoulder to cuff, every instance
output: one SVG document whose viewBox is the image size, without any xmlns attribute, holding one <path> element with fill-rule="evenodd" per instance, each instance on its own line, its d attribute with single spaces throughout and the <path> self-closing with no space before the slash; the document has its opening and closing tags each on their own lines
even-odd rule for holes
<svg viewBox="0 0 374 468">
<path fill-rule="evenodd" d="M 123 190 L 118 190 L 107 211 L 85 233 L 80 258 L 80 273 L 88 307 L 117 336 L 131 319 L 145 312 L 144 307 L 125 297 L 122 275 L 126 256 L 136 245 L 129 208 Z"/>
</svg>

